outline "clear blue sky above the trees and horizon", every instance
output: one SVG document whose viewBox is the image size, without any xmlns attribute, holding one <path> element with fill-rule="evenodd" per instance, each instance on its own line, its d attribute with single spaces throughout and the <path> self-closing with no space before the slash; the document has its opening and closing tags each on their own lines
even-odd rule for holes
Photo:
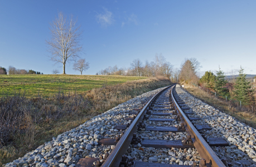
<svg viewBox="0 0 256 167">
<path fill-rule="evenodd" d="M 83 30 L 83 74 L 109 66 L 130 67 L 162 55 L 174 68 L 195 57 L 205 71 L 226 75 L 240 67 L 256 74 L 256 1 L 2 1 L 0 66 L 44 74 L 62 65 L 47 52 L 50 23 L 58 12 L 73 14 Z M 73 63 L 67 74 L 79 75 Z"/>
</svg>

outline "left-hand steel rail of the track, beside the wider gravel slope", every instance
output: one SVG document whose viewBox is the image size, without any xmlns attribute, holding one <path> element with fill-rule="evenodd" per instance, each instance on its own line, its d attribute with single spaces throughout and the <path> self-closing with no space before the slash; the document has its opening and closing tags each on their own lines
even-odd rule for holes
<svg viewBox="0 0 256 167">
<path fill-rule="evenodd" d="M 129 145 L 131 144 L 133 133 L 137 131 L 138 124 L 143 119 L 143 115 L 146 114 L 148 107 L 151 105 L 152 101 L 161 93 L 168 88 L 170 88 L 173 85 L 170 85 L 166 87 L 165 89 L 158 92 L 156 95 L 154 95 L 147 104 L 143 107 L 143 109 L 139 112 L 139 114 L 136 116 L 136 118 L 133 120 L 132 124 L 128 127 L 128 129 L 125 131 L 124 135 L 121 137 L 121 139 L 118 141 L 117 145 L 115 145 L 115 148 L 111 151 L 108 158 L 104 161 L 101 167 L 117 167 L 120 164 L 120 161 L 122 160 L 122 156 L 126 153 Z"/>
</svg>

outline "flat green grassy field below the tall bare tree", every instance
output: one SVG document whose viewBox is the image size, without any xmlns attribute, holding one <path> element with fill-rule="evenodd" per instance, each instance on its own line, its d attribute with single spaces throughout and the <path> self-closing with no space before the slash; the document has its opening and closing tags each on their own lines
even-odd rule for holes
<svg viewBox="0 0 256 167">
<path fill-rule="evenodd" d="M 98 75 L 0 75 L 0 97 L 20 92 L 26 97 L 48 97 L 61 91 L 64 93 L 85 91 L 103 85 L 122 84 L 147 77 L 98 76 Z"/>
</svg>

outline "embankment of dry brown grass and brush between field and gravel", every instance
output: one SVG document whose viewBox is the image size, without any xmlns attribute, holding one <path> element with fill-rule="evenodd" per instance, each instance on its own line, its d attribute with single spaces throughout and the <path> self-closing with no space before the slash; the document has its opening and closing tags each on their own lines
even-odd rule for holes
<svg viewBox="0 0 256 167">
<path fill-rule="evenodd" d="M 0 166 L 95 115 L 144 92 L 170 84 L 165 77 L 154 77 L 118 85 L 102 85 L 83 95 L 59 92 L 48 98 L 1 97 Z"/>
</svg>

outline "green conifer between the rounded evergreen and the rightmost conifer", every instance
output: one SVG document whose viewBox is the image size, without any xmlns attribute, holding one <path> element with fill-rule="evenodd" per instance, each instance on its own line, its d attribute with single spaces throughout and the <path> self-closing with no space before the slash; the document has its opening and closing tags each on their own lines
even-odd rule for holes
<svg viewBox="0 0 256 167">
<path fill-rule="evenodd" d="M 215 79 L 215 91 L 220 95 L 220 96 L 229 96 L 229 90 L 226 89 L 226 83 L 228 81 L 225 80 L 225 75 L 224 72 L 220 70 L 216 72 L 216 79 Z"/>
</svg>

